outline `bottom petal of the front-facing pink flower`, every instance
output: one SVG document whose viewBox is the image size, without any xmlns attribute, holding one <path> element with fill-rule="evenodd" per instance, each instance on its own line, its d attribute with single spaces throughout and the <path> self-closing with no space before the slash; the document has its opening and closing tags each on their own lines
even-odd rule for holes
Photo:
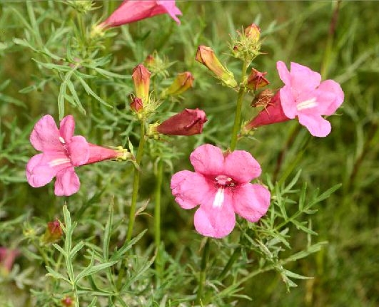
<svg viewBox="0 0 379 307">
<path fill-rule="evenodd" d="M 213 199 L 201 205 L 195 212 L 194 224 L 196 231 L 203 236 L 222 238 L 230 234 L 236 225 L 236 214 L 230 193 L 226 190 L 225 200 L 221 207 L 214 207 Z"/>
</svg>

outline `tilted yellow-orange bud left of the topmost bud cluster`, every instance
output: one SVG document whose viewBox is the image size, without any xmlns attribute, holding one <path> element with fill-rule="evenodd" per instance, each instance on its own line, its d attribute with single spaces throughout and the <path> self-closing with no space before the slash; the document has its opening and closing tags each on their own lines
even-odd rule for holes
<svg viewBox="0 0 379 307">
<path fill-rule="evenodd" d="M 198 46 L 195 60 L 206 66 L 218 79 L 232 88 L 237 87 L 237 81 L 233 73 L 228 71 L 215 56 L 214 51 L 207 46 Z"/>
</svg>

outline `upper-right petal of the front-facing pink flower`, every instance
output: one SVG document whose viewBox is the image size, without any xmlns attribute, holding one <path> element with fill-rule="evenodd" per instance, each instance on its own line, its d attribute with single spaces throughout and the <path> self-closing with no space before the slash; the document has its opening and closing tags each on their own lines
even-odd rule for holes
<svg viewBox="0 0 379 307">
<path fill-rule="evenodd" d="M 223 174 L 240 183 L 250 182 L 261 172 L 261 165 L 245 150 L 235 150 L 225 158 Z"/>
</svg>

